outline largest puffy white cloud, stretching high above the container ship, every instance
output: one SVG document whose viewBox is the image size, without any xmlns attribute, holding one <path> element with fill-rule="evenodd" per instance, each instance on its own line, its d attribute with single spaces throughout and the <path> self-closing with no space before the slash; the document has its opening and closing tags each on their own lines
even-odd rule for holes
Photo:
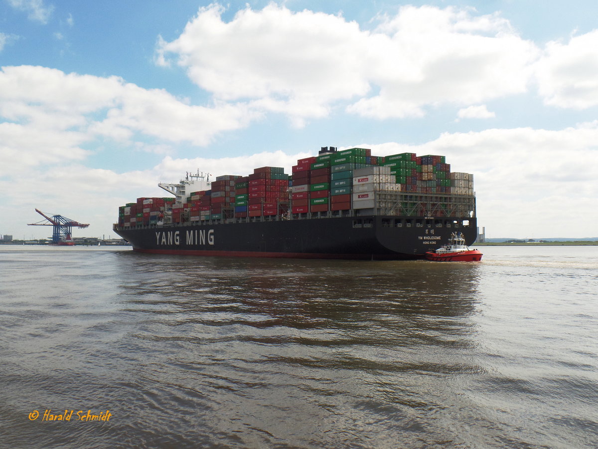
<svg viewBox="0 0 598 449">
<path fill-rule="evenodd" d="M 525 92 L 538 50 L 498 14 L 402 7 L 373 31 L 341 16 L 246 7 L 230 22 L 224 8 L 200 8 L 155 60 L 171 58 L 194 83 L 223 101 L 283 112 L 297 126 L 344 104 L 385 119 L 420 117 L 437 104 L 470 105 Z"/>
</svg>

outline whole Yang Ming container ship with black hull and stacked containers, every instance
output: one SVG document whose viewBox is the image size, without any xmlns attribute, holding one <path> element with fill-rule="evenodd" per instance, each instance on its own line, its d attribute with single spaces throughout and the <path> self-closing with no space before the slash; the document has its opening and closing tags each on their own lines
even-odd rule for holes
<svg viewBox="0 0 598 449">
<path fill-rule="evenodd" d="M 367 148 L 210 181 L 158 184 L 166 198 L 121 206 L 114 230 L 145 253 L 318 259 L 424 259 L 462 233 L 477 238 L 473 176 L 444 156 Z"/>
</svg>

